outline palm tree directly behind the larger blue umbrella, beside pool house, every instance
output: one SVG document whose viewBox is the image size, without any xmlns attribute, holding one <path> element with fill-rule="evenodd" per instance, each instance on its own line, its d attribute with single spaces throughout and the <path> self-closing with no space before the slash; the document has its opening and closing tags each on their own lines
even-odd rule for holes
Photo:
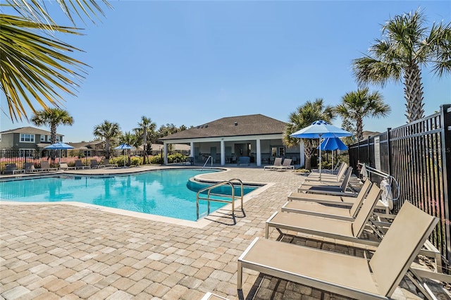
<svg viewBox="0 0 451 300">
<path fill-rule="evenodd" d="M 324 106 L 323 99 L 315 101 L 307 101 L 304 105 L 299 106 L 297 110 L 290 113 L 289 121 L 283 132 L 283 144 L 286 146 L 297 146 L 300 139 L 290 137 L 290 135 L 304 127 L 311 125 L 316 120 L 325 120 L 330 122 L 335 117 L 333 115 L 332 106 Z M 311 156 L 313 156 L 316 146 L 316 139 L 302 139 L 304 142 L 305 168 L 311 169 Z"/>
</svg>

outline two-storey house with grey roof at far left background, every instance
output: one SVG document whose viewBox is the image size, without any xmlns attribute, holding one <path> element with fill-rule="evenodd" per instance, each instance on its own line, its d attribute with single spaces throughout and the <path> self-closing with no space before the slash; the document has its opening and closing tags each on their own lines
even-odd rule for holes
<svg viewBox="0 0 451 300">
<path fill-rule="evenodd" d="M 63 142 L 63 135 L 56 134 L 56 142 Z M 35 127 L 20 127 L 0 132 L 0 150 L 19 151 L 20 157 L 34 156 L 50 144 L 50 132 Z"/>
</svg>

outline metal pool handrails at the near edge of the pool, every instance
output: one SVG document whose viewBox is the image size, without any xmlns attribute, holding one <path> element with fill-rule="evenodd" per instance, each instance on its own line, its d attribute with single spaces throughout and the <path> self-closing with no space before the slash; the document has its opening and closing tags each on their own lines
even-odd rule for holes
<svg viewBox="0 0 451 300">
<path fill-rule="evenodd" d="M 235 182 L 235 184 L 233 183 Z M 240 187 L 241 187 L 241 196 L 235 196 L 235 185 L 237 185 L 239 182 Z M 212 193 L 211 190 L 215 189 L 216 187 L 221 187 L 223 185 L 229 185 L 232 189 L 232 195 L 226 195 L 226 194 L 216 194 L 216 193 Z M 232 204 L 232 218 L 233 218 L 233 223 L 236 224 L 236 220 L 235 220 L 235 200 L 240 197 L 241 199 L 241 210 L 243 211 L 243 194 L 244 194 L 244 185 L 242 183 L 242 181 L 238 178 L 233 178 L 230 180 L 224 180 L 222 182 L 218 182 L 214 185 L 211 185 L 209 187 L 204 187 L 203 189 L 199 189 L 199 192 L 197 192 L 197 196 L 196 196 L 196 220 L 199 220 L 199 200 L 204 200 L 204 201 L 208 201 L 208 209 L 207 209 L 207 213 L 206 215 L 210 214 L 210 201 L 213 202 L 223 202 L 223 203 L 230 203 Z M 208 191 L 208 192 L 206 192 Z M 203 196 L 202 193 L 206 192 L 206 196 Z M 222 197 L 229 197 L 230 199 L 215 199 L 215 198 L 211 198 L 211 196 L 222 196 Z M 244 211 L 243 211 L 244 213 Z"/>
</svg>

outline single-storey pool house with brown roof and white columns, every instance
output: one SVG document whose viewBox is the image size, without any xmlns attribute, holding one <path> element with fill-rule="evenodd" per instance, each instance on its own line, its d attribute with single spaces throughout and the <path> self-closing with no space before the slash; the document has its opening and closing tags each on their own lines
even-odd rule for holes
<svg viewBox="0 0 451 300">
<path fill-rule="evenodd" d="M 168 144 L 190 145 L 194 163 L 226 165 L 237 163 L 240 156 L 248 156 L 257 166 L 271 164 L 275 157 L 292 158 L 304 165 L 304 144 L 289 148 L 283 145 L 285 123 L 266 115 L 239 115 L 221 118 L 162 137 L 164 163 L 168 163 Z"/>
</svg>

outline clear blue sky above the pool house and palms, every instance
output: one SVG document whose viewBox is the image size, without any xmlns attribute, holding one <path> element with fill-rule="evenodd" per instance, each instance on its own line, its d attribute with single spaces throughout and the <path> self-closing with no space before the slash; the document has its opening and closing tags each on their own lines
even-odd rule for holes
<svg viewBox="0 0 451 300">
<path fill-rule="evenodd" d="M 157 128 L 256 113 L 286 122 L 306 101 L 335 106 L 357 91 L 352 60 L 368 53 L 393 16 L 421 8 L 427 27 L 451 21 L 451 1 L 110 3 L 113 9 L 96 24 L 77 23 L 83 36 L 58 36 L 82 49 L 70 55 L 89 65 L 77 96 L 64 96 L 62 108 L 75 120 L 58 127 L 65 142 L 93 140 L 104 120 L 132 131 L 142 116 Z M 51 12 L 70 25 L 56 4 Z M 451 75 L 439 78 L 423 68 L 422 82 L 425 115 L 451 103 Z M 402 82 L 369 88 L 381 92 L 392 111 L 387 118 L 364 118 L 364 130 L 407 122 Z M 0 113 L 0 131 L 24 126 L 36 127 Z"/>
</svg>

